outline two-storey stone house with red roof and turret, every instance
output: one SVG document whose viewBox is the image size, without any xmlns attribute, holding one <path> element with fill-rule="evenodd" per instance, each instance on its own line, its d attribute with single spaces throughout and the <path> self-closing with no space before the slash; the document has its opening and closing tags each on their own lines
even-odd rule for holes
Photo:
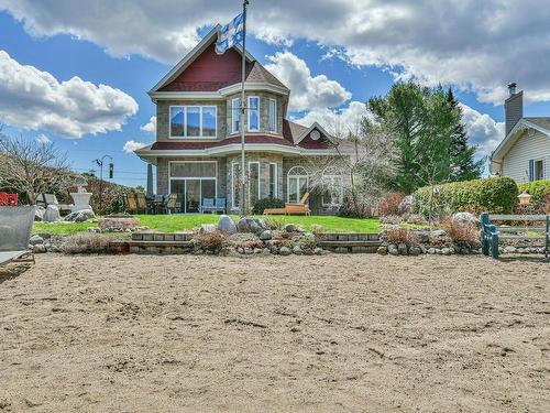
<svg viewBox="0 0 550 413">
<path fill-rule="evenodd" d="M 156 166 L 156 193 L 177 193 L 183 213 L 215 197 L 226 198 L 228 210 L 239 208 L 242 48 L 218 55 L 216 40 L 217 28 L 148 91 L 156 141 L 135 151 Z M 249 53 L 245 58 L 250 205 L 265 197 L 297 203 L 310 191 L 308 165 L 337 155 L 334 138 L 317 122 L 304 127 L 286 119 L 288 87 Z M 311 193 L 314 214 L 334 213 L 341 203 L 341 185 Z"/>
</svg>

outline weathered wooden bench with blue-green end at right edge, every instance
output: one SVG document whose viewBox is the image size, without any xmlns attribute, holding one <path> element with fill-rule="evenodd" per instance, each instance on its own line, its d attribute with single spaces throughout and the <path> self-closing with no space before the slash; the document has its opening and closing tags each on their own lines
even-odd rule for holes
<svg viewBox="0 0 550 413">
<path fill-rule="evenodd" d="M 495 225 L 495 221 L 521 221 L 522 226 Z M 543 240 L 544 257 L 548 258 L 550 248 L 550 215 L 501 215 L 483 213 L 482 222 L 482 251 L 484 256 L 498 258 L 498 240 L 515 239 L 520 241 Z M 543 226 L 528 226 L 528 222 L 543 222 Z M 519 232 L 540 233 L 535 237 L 528 237 Z"/>
</svg>

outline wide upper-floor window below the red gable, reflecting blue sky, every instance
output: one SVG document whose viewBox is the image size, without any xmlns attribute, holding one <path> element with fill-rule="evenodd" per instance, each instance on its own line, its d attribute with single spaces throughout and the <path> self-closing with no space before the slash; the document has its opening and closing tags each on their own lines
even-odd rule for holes
<svg viewBox="0 0 550 413">
<path fill-rule="evenodd" d="M 216 106 L 170 106 L 170 138 L 216 138 Z"/>
</svg>

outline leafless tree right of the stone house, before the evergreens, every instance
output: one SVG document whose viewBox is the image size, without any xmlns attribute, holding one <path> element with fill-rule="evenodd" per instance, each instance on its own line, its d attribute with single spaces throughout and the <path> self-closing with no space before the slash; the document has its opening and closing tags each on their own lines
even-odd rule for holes
<svg viewBox="0 0 550 413">
<path fill-rule="evenodd" d="M 309 161 L 310 187 L 340 194 L 353 216 L 370 216 L 396 172 L 394 135 L 373 124 L 366 108 L 346 122 L 338 115 L 327 121 L 337 155 Z"/>
</svg>

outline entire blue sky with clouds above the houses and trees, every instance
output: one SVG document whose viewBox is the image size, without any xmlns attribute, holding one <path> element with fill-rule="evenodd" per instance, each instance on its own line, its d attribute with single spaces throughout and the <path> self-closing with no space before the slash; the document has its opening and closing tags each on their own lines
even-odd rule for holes
<svg viewBox="0 0 550 413">
<path fill-rule="evenodd" d="M 248 51 L 292 90 L 304 124 L 352 122 L 395 81 L 452 87 L 477 155 L 504 138 L 506 85 L 525 116 L 550 116 L 544 0 L 251 0 Z M 2 132 L 54 142 L 78 172 L 112 156 L 114 182 L 145 185 L 131 151 L 154 141 L 146 91 L 238 0 L 0 0 Z"/>
</svg>

